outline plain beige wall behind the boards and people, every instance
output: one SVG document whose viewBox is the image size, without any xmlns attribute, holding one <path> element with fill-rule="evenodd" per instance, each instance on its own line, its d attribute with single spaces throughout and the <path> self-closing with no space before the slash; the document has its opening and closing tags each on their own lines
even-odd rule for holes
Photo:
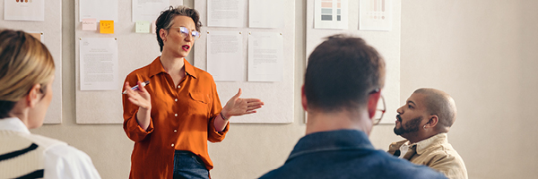
<svg viewBox="0 0 538 179">
<path fill-rule="evenodd" d="M 210 144 L 213 178 L 255 178 L 281 166 L 305 131 L 303 82 L 306 1 L 296 0 L 295 122 L 232 124 L 226 140 Z M 184 0 L 193 5 L 194 0 Z M 63 0 L 63 124 L 32 132 L 88 153 L 103 178 L 126 178 L 133 142 L 120 124 L 75 124 L 74 2 Z M 458 118 L 449 141 L 470 178 L 538 175 L 537 1 L 405 0 L 402 3 L 401 100 L 433 87 L 456 99 Z M 192 62 L 192 58 L 189 59 Z M 59 79 L 58 79 L 59 80 Z M 395 110 L 395 109 L 389 109 Z M 96 111 L 95 113 L 99 113 Z M 392 117 L 394 116 L 386 116 Z M 374 128 L 378 149 L 401 138 L 393 125 Z"/>
</svg>

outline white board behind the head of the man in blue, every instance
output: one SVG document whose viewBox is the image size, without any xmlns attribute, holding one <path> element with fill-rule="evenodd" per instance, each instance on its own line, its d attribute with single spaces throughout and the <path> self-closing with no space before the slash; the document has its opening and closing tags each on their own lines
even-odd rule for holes
<svg viewBox="0 0 538 179">
<path fill-rule="evenodd" d="M 359 30 L 359 1 L 349 1 L 348 4 L 348 29 L 346 30 L 319 30 L 314 29 L 314 1 L 307 1 L 307 44 L 308 56 L 314 48 L 335 34 L 348 34 L 360 37 L 377 49 L 377 52 L 385 58 L 386 80 L 382 95 L 386 101 L 386 113 L 381 124 L 394 124 L 396 109 L 400 107 L 400 39 L 401 39 L 401 9 L 402 2 L 393 1 L 393 24 L 390 31 L 365 31 Z"/>
</svg>

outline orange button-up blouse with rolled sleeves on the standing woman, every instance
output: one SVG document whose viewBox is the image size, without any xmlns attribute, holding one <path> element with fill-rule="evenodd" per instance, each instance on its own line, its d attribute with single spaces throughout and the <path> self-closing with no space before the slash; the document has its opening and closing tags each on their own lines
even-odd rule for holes
<svg viewBox="0 0 538 179">
<path fill-rule="evenodd" d="M 144 131 L 136 122 L 138 107 L 123 96 L 124 130 L 134 141 L 129 178 L 169 178 L 174 170 L 174 150 L 188 150 L 204 160 L 208 170 L 213 162 L 207 153 L 207 141 L 224 139 L 230 128 L 216 132 L 213 120 L 221 113 L 221 101 L 213 76 L 185 62 L 186 75 L 174 85 L 164 71 L 161 57 L 152 64 L 131 72 L 129 84 L 150 81 L 145 86 L 152 96 L 151 123 Z"/>
</svg>

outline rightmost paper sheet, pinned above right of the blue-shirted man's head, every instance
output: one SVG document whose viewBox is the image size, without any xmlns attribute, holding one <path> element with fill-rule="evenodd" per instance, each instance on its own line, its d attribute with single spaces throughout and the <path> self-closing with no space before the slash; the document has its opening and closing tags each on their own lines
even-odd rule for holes
<svg viewBox="0 0 538 179">
<path fill-rule="evenodd" d="M 359 30 L 392 30 L 392 0 L 360 0 Z"/>
</svg>

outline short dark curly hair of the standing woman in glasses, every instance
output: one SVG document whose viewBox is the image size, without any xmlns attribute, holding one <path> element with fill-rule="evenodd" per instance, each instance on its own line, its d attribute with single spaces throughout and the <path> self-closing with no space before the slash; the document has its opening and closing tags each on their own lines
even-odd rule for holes
<svg viewBox="0 0 538 179">
<path fill-rule="evenodd" d="M 162 46 L 164 44 L 162 43 L 161 35 L 159 34 L 159 31 L 162 30 L 169 30 L 172 26 L 172 23 L 174 22 L 174 18 L 178 15 L 183 15 L 190 17 L 195 21 L 196 31 L 200 31 L 200 27 L 202 27 L 202 22 L 200 22 L 200 15 L 199 13 L 193 9 L 189 8 L 187 6 L 179 5 L 178 7 L 174 8 L 173 6 L 169 6 L 169 9 L 166 11 L 161 12 L 161 15 L 157 18 L 157 21 L 155 21 L 155 28 L 156 28 L 156 34 L 157 34 L 157 42 L 159 42 L 159 46 L 161 47 L 162 52 Z"/>
</svg>

